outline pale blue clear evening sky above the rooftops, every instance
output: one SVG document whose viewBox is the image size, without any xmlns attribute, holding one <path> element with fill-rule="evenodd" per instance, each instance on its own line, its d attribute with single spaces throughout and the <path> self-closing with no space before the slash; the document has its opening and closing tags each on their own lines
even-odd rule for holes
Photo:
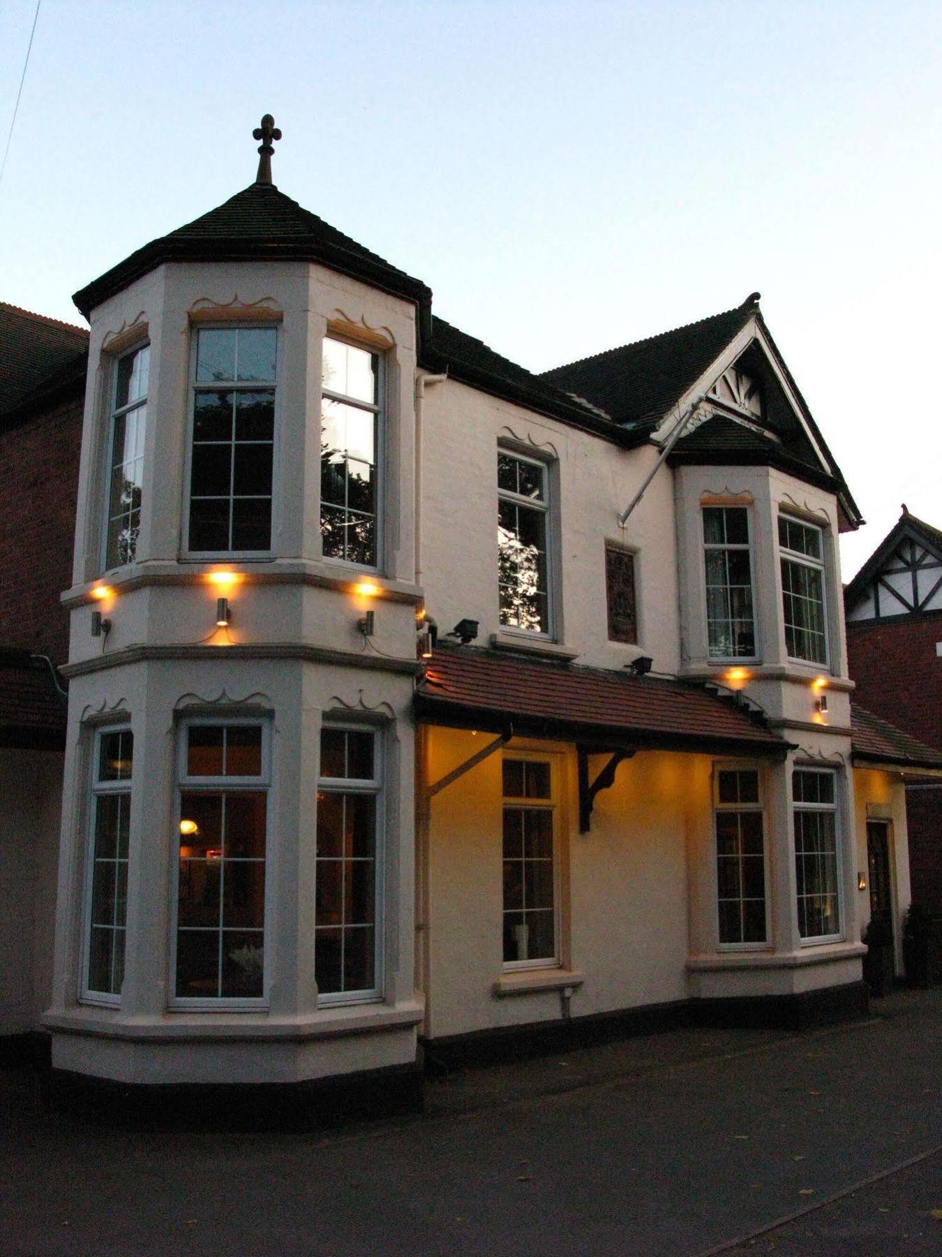
<svg viewBox="0 0 942 1257">
<path fill-rule="evenodd" d="M 5 145 L 35 0 L 0 5 Z M 255 176 L 533 370 L 754 289 L 869 527 L 942 527 L 942 4 L 43 0 L 0 298 L 70 293 Z"/>
</svg>

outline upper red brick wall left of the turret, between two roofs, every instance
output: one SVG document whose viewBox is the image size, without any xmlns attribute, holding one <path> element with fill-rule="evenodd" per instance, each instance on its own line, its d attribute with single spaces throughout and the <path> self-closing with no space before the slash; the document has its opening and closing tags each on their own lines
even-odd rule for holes
<svg viewBox="0 0 942 1257">
<path fill-rule="evenodd" d="M 63 664 L 83 398 L 0 430 L 0 646 Z"/>
</svg>

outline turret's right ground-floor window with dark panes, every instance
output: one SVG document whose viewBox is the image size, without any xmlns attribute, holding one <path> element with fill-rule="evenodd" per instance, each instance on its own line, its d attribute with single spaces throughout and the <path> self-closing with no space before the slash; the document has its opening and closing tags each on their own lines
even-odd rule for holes
<svg viewBox="0 0 942 1257">
<path fill-rule="evenodd" d="M 383 998 L 383 727 L 325 723 L 318 778 L 318 1006 Z"/>
</svg>

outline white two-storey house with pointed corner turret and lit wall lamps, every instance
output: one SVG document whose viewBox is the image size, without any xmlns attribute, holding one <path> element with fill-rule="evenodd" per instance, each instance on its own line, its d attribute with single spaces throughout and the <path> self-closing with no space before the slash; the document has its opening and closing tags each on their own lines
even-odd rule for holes
<svg viewBox="0 0 942 1257">
<path fill-rule="evenodd" d="M 942 754 L 852 714 L 862 520 L 759 294 L 534 375 L 279 191 L 270 123 L 255 184 L 75 295 L 87 349 L 9 314 L 62 358 L 0 437 L 0 838 L 33 897 L 59 865 L 54 948 L 0 887 L 0 1029 L 317 1111 L 414 1104 L 420 1037 L 858 1013 L 868 835 L 898 944 L 901 774 Z"/>
</svg>

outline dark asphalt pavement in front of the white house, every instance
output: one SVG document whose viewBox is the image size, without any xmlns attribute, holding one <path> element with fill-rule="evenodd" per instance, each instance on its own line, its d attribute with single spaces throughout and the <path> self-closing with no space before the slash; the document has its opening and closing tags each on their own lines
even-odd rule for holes
<svg viewBox="0 0 942 1257">
<path fill-rule="evenodd" d="M 90 1126 L 10 1071 L 0 1251 L 939 1257 L 942 991 L 872 1007 L 450 1075 L 330 1134 Z"/>
</svg>

